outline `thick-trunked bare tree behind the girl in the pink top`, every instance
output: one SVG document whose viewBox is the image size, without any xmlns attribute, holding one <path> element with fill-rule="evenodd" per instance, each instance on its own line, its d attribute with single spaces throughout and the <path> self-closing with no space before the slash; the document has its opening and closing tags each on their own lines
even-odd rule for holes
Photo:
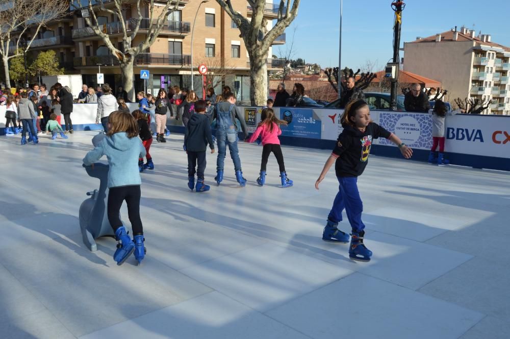
<svg viewBox="0 0 510 339">
<path fill-rule="evenodd" d="M 270 31 L 267 31 L 268 21 L 264 17 L 266 0 L 247 0 L 252 11 L 250 19 L 236 11 L 231 0 L 216 1 L 232 18 L 241 32 L 250 58 L 250 101 L 252 105 L 263 106 L 267 100 L 266 59 L 269 48 L 297 16 L 300 0 L 280 0 L 277 10 L 278 17 Z M 271 8 L 270 11 L 272 12 L 273 9 Z"/>
</svg>

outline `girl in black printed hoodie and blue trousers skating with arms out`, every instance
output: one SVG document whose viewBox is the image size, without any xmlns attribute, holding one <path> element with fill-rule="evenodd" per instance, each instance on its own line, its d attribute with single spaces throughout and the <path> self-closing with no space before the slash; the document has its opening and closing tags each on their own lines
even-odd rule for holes
<svg viewBox="0 0 510 339">
<path fill-rule="evenodd" d="M 341 123 L 344 130 L 338 136 L 336 147 L 315 183 L 315 188 L 319 189 L 319 183 L 335 163 L 335 172 L 340 183 L 339 191 L 327 217 L 322 239 L 340 244 L 349 242 L 349 235 L 337 228 L 338 223 L 342 221 L 342 211 L 345 208 L 352 228 L 349 257 L 353 260 L 370 261 L 372 251 L 363 244 L 365 225 L 361 221 L 363 203 L 358 191 L 358 177 L 367 166 L 373 139 L 384 137 L 391 140 L 398 145 L 406 159 L 411 158 L 413 151 L 398 136 L 373 123 L 370 119 L 370 109 L 361 99 L 347 105 Z"/>
</svg>

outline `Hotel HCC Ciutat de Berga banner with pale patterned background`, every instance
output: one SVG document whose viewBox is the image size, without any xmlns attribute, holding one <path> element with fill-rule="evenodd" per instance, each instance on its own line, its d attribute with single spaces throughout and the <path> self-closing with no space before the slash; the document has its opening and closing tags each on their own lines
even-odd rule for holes
<svg viewBox="0 0 510 339">
<path fill-rule="evenodd" d="M 379 112 L 379 125 L 395 133 L 407 146 L 414 149 L 432 147 L 432 117 L 426 113 Z M 395 146 L 387 139 L 379 138 L 381 145 Z"/>
</svg>

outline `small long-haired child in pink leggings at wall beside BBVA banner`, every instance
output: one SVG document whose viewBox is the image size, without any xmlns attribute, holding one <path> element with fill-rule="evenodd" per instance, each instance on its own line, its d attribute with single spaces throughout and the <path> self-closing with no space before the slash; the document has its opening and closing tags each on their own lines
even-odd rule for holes
<svg viewBox="0 0 510 339">
<path fill-rule="evenodd" d="M 446 115 L 462 113 L 462 110 L 455 110 L 448 113 L 448 108 L 442 100 L 436 100 L 434 109 L 429 110 L 432 114 L 432 148 L 428 156 L 428 162 L 437 164 L 438 166 L 446 166 L 450 161 L 444 157 L 445 151 L 445 118 Z M 439 146 L 439 152 L 437 148 Z"/>
</svg>

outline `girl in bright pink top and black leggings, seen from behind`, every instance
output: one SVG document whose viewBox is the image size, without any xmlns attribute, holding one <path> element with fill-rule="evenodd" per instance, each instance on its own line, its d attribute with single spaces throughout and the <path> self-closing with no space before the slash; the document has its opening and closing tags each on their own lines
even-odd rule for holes
<svg viewBox="0 0 510 339">
<path fill-rule="evenodd" d="M 287 173 L 285 172 L 284 156 L 282 154 L 282 148 L 280 147 L 280 140 L 278 139 L 278 135 L 282 134 L 279 125 L 287 126 L 287 122 L 276 118 L 271 108 L 265 108 L 262 110 L 261 123 L 257 127 L 257 130 L 246 140 L 251 143 L 257 140 L 259 136 L 262 138 L 262 146 L 264 146 L 264 149 L 262 150 L 260 177 L 257 179 L 257 183 L 261 186 L 263 186 L 266 181 L 266 165 L 271 152 L 273 152 L 278 166 L 280 167 L 282 187 L 292 186 L 292 180 L 287 177 Z"/>
</svg>

